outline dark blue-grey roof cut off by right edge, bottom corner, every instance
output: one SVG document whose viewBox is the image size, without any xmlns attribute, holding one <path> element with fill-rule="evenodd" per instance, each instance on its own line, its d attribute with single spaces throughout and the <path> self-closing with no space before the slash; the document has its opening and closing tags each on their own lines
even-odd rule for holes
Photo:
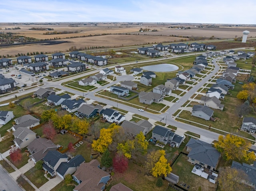
<svg viewBox="0 0 256 191">
<path fill-rule="evenodd" d="M 248 175 L 248 180 L 256 185 L 256 167 L 248 165 L 246 163 L 241 164 L 239 162 L 232 161 L 231 168 L 236 168 L 238 170 L 244 171 Z"/>
</svg>

